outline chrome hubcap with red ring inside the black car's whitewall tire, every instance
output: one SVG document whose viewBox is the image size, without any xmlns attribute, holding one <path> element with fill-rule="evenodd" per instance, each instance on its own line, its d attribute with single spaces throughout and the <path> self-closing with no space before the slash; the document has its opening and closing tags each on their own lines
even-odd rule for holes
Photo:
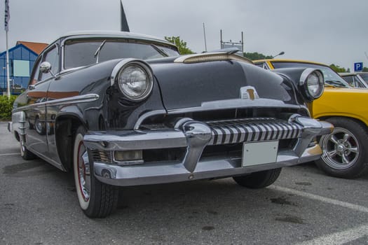
<svg viewBox="0 0 368 245">
<path fill-rule="evenodd" d="M 77 171 L 79 189 L 85 202 L 90 200 L 90 163 L 88 161 L 88 153 L 83 142 L 79 142 L 77 155 Z"/>
</svg>

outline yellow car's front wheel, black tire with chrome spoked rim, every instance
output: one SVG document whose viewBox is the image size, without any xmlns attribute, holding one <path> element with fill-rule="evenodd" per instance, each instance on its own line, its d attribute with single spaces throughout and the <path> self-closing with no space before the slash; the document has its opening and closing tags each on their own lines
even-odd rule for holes
<svg viewBox="0 0 368 245">
<path fill-rule="evenodd" d="M 320 138 L 323 154 L 315 164 L 330 176 L 353 179 L 368 172 L 368 133 L 348 118 L 329 118 L 334 132 Z"/>
</svg>

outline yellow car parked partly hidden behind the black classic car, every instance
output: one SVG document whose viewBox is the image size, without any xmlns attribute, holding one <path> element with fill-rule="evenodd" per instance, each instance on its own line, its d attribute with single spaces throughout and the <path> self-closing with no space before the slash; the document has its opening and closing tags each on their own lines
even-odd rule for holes
<svg viewBox="0 0 368 245">
<path fill-rule="evenodd" d="M 367 89 L 350 87 L 329 66 L 316 62 L 261 59 L 254 64 L 270 70 L 320 69 L 325 78 L 325 91 L 308 108 L 313 118 L 327 120 L 335 127 L 331 134 L 320 138 L 323 155 L 316 164 L 327 174 L 341 178 L 356 178 L 368 172 Z"/>
</svg>

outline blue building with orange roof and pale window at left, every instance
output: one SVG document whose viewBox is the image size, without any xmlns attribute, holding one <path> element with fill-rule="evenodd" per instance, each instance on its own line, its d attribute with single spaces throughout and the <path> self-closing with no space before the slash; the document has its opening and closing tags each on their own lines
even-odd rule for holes
<svg viewBox="0 0 368 245">
<path fill-rule="evenodd" d="M 37 56 L 47 43 L 18 41 L 9 49 L 9 77 L 11 92 L 26 88 Z M 6 80 L 6 51 L 0 53 L 0 93 L 8 90 Z"/>
</svg>

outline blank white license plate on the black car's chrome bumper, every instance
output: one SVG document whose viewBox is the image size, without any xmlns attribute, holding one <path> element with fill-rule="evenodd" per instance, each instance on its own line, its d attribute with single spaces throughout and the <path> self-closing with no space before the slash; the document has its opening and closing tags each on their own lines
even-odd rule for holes
<svg viewBox="0 0 368 245">
<path fill-rule="evenodd" d="M 278 141 L 264 141 L 243 144 L 242 166 L 264 165 L 276 162 Z"/>
</svg>

